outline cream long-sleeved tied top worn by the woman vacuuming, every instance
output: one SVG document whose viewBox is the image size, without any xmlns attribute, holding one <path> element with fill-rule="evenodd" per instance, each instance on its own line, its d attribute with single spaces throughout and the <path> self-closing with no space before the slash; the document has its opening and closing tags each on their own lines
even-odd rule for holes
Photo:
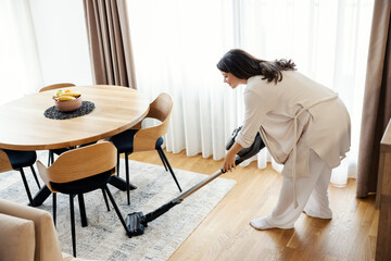
<svg viewBox="0 0 391 261">
<path fill-rule="evenodd" d="M 330 169 L 338 166 L 351 145 L 350 116 L 338 95 L 298 71 L 282 72 L 277 84 L 262 77 L 248 79 L 236 141 L 250 147 L 260 132 L 273 158 L 293 177 L 311 175 L 310 149 Z"/>
</svg>

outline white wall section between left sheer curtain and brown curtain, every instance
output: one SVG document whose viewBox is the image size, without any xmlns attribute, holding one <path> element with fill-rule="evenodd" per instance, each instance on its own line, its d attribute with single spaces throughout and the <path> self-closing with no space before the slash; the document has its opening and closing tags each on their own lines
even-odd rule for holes
<svg viewBox="0 0 391 261">
<path fill-rule="evenodd" d="M 43 85 L 91 85 L 84 7 L 80 0 L 29 0 Z"/>
</svg>

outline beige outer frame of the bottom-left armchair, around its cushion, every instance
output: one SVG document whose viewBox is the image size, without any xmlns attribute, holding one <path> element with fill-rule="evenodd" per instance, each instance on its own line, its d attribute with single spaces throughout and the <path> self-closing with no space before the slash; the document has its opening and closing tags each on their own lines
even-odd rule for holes
<svg viewBox="0 0 391 261">
<path fill-rule="evenodd" d="M 35 260 L 62 260 L 58 235 L 49 212 L 0 199 L 0 213 L 34 222 L 36 237 Z"/>
</svg>

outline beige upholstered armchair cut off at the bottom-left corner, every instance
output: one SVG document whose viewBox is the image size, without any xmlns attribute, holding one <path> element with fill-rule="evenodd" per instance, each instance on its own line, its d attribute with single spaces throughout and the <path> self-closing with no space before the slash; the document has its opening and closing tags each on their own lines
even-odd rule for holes
<svg viewBox="0 0 391 261">
<path fill-rule="evenodd" d="M 61 252 L 49 212 L 0 199 L 0 260 L 83 261 Z"/>
</svg>

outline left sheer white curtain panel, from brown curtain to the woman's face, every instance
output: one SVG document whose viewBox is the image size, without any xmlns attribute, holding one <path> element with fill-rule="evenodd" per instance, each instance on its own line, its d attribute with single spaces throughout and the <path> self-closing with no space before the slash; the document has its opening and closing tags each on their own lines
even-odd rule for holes
<svg viewBox="0 0 391 261">
<path fill-rule="evenodd" d="M 174 98 L 166 149 L 219 160 L 237 125 L 235 97 L 216 63 L 232 47 L 232 8 L 222 1 L 130 0 L 128 16 L 138 89 Z"/>
</svg>

